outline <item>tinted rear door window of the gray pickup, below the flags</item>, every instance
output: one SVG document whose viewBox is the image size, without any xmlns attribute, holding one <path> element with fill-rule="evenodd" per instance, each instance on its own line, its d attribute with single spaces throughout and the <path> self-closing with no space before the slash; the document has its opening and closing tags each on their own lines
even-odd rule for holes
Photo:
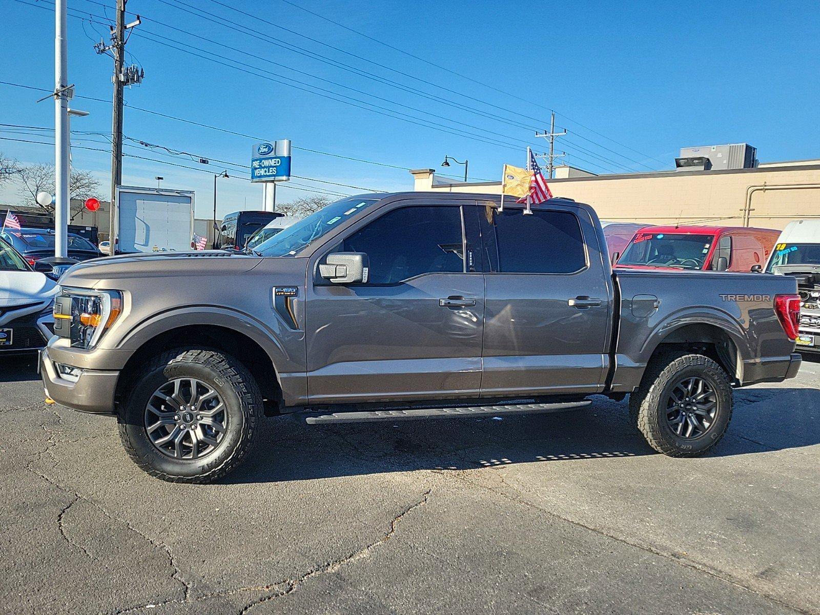
<svg viewBox="0 0 820 615">
<path fill-rule="evenodd" d="M 572 273 L 586 265 L 581 225 L 575 214 L 521 209 L 499 213 L 488 208 L 495 228 L 497 271 L 503 273 Z"/>
</svg>

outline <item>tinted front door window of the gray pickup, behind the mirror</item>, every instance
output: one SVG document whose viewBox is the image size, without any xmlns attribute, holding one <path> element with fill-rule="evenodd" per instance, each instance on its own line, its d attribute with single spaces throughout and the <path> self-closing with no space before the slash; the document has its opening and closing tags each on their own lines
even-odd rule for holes
<svg viewBox="0 0 820 615">
<path fill-rule="evenodd" d="M 464 271 L 461 207 L 402 207 L 344 239 L 340 252 L 370 258 L 370 284 Z"/>
</svg>

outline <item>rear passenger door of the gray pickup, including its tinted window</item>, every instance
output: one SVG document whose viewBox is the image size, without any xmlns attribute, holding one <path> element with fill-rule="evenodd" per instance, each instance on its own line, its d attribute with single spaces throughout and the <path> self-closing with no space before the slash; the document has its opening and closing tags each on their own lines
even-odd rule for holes
<svg viewBox="0 0 820 615">
<path fill-rule="evenodd" d="M 489 264 L 481 396 L 603 389 L 611 280 L 589 214 L 482 207 L 479 217 Z"/>
</svg>

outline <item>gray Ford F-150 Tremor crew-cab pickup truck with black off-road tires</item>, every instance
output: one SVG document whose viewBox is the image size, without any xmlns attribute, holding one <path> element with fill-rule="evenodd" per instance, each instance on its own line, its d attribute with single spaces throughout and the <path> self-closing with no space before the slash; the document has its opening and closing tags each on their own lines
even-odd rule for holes
<svg viewBox="0 0 820 615">
<path fill-rule="evenodd" d="M 732 387 L 794 377 L 786 276 L 613 273 L 592 207 L 367 194 L 254 253 L 81 263 L 42 353 L 48 397 L 114 413 L 166 481 L 247 455 L 262 415 L 309 424 L 556 412 L 630 394 L 654 449 L 711 449 Z"/>
</svg>

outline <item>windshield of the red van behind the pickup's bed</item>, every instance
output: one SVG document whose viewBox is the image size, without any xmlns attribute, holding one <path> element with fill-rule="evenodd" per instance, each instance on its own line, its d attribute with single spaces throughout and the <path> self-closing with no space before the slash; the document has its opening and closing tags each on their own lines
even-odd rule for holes
<svg viewBox="0 0 820 615">
<path fill-rule="evenodd" d="M 636 233 L 617 264 L 703 269 L 713 239 L 713 235 Z"/>
</svg>

